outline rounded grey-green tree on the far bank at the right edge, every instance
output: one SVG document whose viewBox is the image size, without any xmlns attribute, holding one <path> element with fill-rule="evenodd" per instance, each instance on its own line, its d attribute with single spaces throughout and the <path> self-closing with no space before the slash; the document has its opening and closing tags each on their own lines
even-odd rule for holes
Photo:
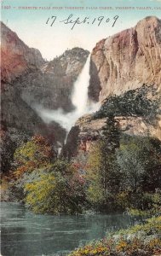
<svg viewBox="0 0 161 256">
<path fill-rule="evenodd" d="M 148 137 L 123 137 L 120 144 L 116 151 L 122 177 L 118 204 L 156 212 L 159 204 L 155 206 L 152 196 L 161 184 L 161 143 Z"/>
</svg>

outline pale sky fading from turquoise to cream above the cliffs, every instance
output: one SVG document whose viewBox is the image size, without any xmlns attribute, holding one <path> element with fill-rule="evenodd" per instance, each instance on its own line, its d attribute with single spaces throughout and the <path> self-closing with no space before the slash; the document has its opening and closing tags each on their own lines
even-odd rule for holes
<svg viewBox="0 0 161 256">
<path fill-rule="evenodd" d="M 161 0 L 0 1 L 1 20 L 29 47 L 39 49 L 43 58 L 48 61 L 73 47 L 91 51 L 102 38 L 135 26 L 146 16 L 161 18 Z M 38 9 L 22 9 L 23 7 Z M 69 9 L 71 7 L 83 9 Z M 128 9 L 123 9 L 124 7 Z M 129 9 L 134 7 L 135 9 Z M 55 18 L 52 19 L 52 16 Z M 55 22 L 51 26 L 53 20 Z M 74 26 L 76 20 L 82 23 Z M 72 23 L 65 24 L 67 21 Z"/>
</svg>

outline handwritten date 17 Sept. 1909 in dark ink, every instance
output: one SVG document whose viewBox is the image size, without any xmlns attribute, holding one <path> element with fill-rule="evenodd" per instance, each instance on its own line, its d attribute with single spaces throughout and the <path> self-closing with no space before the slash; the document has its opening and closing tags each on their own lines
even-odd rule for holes
<svg viewBox="0 0 161 256">
<path fill-rule="evenodd" d="M 101 26 L 102 22 L 109 23 L 111 22 L 112 26 L 115 26 L 119 16 L 115 15 L 110 18 L 106 18 L 105 16 L 99 16 L 98 18 L 93 18 L 90 19 L 90 17 L 84 17 L 83 19 L 80 19 L 80 17 L 74 19 L 73 15 L 69 15 L 65 20 L 59 20 L 57 16 L 51 16 L 49 19 L 46 21 L 46 24 L 49 24 L 50 26 L 53 26 L 56 22 L 61 22 L 64 24 L 72 24 L 71 29 L 73 29 L 76 25 L 81 25 L 81 24 L 97 24 L 97 26 Z"/>
</svg>

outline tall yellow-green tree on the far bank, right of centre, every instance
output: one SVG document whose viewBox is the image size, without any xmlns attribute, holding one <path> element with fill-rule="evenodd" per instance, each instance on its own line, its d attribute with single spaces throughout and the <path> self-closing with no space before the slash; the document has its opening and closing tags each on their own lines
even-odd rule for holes
<svg viewBox="0 0 161 256">
<path fill-rule="evenodd" d="M 96 143 L 89 153 L 87 180 L 89 202 L 96 208 L 112 211 L 113 195 L 119 186 L 119 172 L 114 154 L 106 150 L 104 141 Z"/>
</svg>

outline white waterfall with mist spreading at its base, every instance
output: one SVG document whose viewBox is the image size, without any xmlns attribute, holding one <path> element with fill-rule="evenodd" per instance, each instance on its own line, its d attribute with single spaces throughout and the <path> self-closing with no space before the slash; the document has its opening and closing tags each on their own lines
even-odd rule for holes
<svg viewBox="0 0 161 256">
<path fill-rule="evenodd" d="M 75 109 L 72 112 L 65 113 L 62 108 L 56 110 L 45 109 L 42 106 L 35 106 L 37 113 L 45 123 L 55 121 L 66 129 L 67 134 L 75 125 L 76 121 L 87 113 L 94 113 L 100 108 L 99 102 L 89 102 L 88 88 L 89 88 L 89 65 L 90 55 L 83 67 L 82 72 L 78 76 L 72 90 L 72 104 Z"/>
</svg>

